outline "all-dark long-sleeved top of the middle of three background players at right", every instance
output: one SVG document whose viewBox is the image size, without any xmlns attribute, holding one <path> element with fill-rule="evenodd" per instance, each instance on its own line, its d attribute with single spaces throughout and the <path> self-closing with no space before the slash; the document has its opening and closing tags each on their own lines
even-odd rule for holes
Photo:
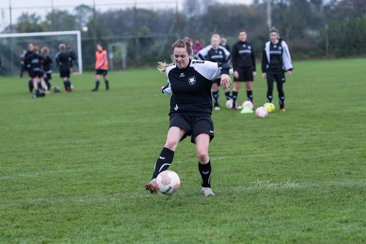
<svg viewBox="0 0 366 244">
<path fill-rule="evenodd" d="M 249 42 L 236 42 L 232 46 L 231 56 L 234 70 L 252 68 L 256 71 L 254 50 Z"/>
</svg>

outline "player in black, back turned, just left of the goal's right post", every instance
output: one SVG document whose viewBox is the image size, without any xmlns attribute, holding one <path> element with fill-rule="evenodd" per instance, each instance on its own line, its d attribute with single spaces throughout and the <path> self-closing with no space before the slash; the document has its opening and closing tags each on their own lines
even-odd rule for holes
<svg viewBox="0 0 366 244">
<path fill-rule="evenodd" d="M 71 83 L 70 83 L 70 61 L 69 61 L 69 53 L 66 52 L 66 45 L 61 43 L 59 45 L 59 50 L 56 54 L 56 63 L 60 65 L 60 77 L 64 82 L 65 92 L 71 92 Z"/>
</svg>

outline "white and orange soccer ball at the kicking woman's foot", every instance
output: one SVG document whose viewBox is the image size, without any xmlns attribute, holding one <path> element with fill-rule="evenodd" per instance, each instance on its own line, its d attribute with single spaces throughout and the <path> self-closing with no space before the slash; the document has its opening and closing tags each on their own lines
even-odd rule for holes
<svg viewBox="0 0 366 244">
<path fill-rule="evenodd" d="M 171 195 L 178 191 L 180 179 L 177 173 L 172 170 L 165 170 L 156 177 L 156 188 L 164 195 Z"/>
</svg>

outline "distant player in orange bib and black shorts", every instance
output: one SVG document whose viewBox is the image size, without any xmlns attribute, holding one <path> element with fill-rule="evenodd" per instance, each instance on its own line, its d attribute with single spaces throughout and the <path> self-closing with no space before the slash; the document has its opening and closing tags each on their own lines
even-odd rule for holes
<svg viewBox="0 0 366 244">
<path fill-rule="evenodd" d="M 100 75 L 103 75 L 105 82 L 105 89 L 109 90 L 109 83 L 107 77 L 108 71 L 108 56 L 107 51 L 104 50 L 104 47 L 101 43 L 97 44 L 97 52 L 95 53 L 96 61 L 95 61 L 95 88 L 91 91 L 98 91 Z"/>
</svg>

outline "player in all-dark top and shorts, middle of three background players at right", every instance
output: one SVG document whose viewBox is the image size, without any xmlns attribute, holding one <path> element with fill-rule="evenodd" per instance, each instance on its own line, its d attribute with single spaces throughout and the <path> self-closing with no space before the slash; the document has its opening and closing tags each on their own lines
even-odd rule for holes
<svg viewBox="0 0 366 244">
<path fill-rule="evenodd" d="M 238 31 L 239 41 L 232 46 L 232 66 L 234 68 L 234 88 L 232 89 L 232 98 L 234 100 L 233 110 L 236 109 L 236 100 L 241 82 L 245 81 L 248 100 L 253 102 L 252 82 L 257 75 L 255 68 L 255 55 L 253 46 L 247 42 L 247 31 L 240 29 Z"/>
</svg>

